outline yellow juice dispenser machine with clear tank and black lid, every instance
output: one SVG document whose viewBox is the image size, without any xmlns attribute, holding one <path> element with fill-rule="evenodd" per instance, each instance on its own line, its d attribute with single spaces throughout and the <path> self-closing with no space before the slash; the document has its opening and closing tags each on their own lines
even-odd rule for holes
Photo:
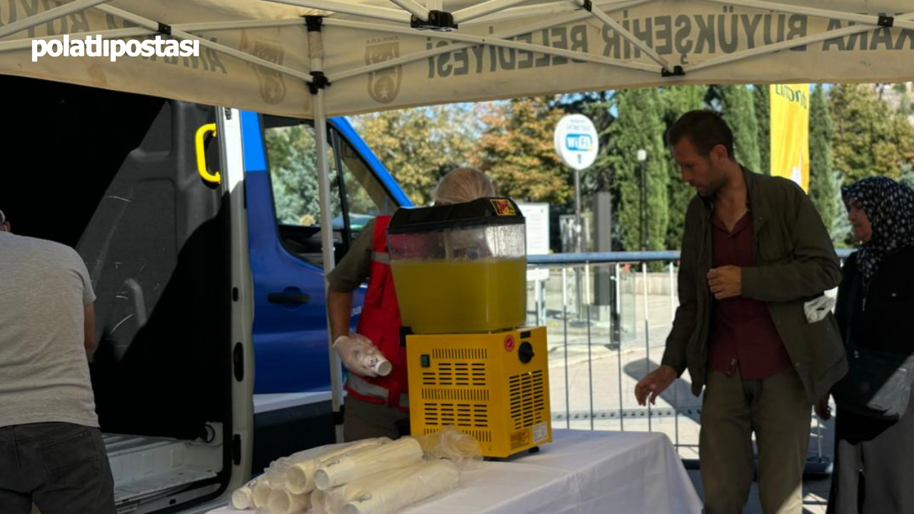
<svg viewBox="0 0 914 514">
<path fill-rule="evenodd" d="M 524 327 L 526 230 L 515 202 L 399 209 L 388 252 L 412 434 L 454 425 L 490 457 L 550 442 L 546 327 Z"/>
</svg>

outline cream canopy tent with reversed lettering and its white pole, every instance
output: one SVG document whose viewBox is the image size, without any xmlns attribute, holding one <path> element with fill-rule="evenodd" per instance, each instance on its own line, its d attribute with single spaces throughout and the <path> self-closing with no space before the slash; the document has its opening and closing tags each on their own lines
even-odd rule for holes
<svg viewBox="0 0 914 514">
<path fill-rule="evenodd" d="M 197 39 L 201 51 L 32 60 L 32 39 L 97 34 Z M 415 105 L 689 83 L 912 80 L 914 4 L 0 0 L 0 73 L 313 118 L 325 148 L 326 116 Z M 328 227 L 326 152 L 317 155 Z M 331 238 L 324 230 L 327 271 Z M 338 362 L 333 369 L 336 393 Z"/>
</svg>

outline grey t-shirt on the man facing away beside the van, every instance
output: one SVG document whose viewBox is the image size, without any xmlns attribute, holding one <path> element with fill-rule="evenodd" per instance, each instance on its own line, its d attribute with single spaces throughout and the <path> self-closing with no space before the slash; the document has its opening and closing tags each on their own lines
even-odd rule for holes
<svg viewBox="0 0 914 514">
<path fill-rule="evenodd" d="M 99 426 L 83 310 L 94 301 L 79 253 L 0 232 L 0 427 Z"/>
</svg>

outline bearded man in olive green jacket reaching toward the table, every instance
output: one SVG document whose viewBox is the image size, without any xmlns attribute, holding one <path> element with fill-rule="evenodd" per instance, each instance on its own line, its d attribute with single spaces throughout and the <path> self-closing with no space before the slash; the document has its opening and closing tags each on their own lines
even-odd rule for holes
<svg viewBox="0 0 914 514">
<path fill-rule="evenodd" d="M 707 514 L 742 512 L 753 433 L 763 512 L 800 514 L 811 407 L 847 369 L 834 316 L 810 323 L 803 312 L 841 280 L 834 247 L 800 187 L 739 165 L 716 113 L 686 113 L 667 139 L 697 195 L 685 214 L 673 330 L 635 395 L 654 402 L 685 369 L 696 395 L 705 388 Z"/>
</svg>

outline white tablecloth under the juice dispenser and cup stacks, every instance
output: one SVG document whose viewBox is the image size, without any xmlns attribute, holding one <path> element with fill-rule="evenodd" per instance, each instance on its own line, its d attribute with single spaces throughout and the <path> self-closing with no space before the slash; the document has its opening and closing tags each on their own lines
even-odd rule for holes
<svg viewBox="0 0 914 514">
<path fill-rule="evenodd" d="M 538 454 L 464 472 L 460 488 L 402 514 L 700 514 L 664 434 L 554 430 L 553 438 Z"/>
</svg>

